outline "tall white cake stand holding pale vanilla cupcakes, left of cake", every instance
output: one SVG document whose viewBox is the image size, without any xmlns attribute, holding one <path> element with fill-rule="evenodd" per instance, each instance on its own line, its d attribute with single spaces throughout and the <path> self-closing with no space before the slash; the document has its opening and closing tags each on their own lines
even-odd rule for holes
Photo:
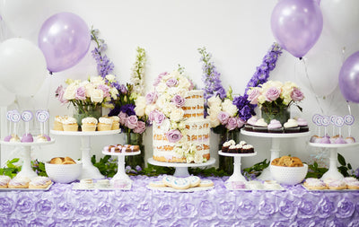
<svg viewBox="0 0 359 227">
<path fill-rule="evenodd" d="M 109 131 L 94 131 L 94 132 L 70 132 L 70 131 L 57 131 L 50 130 L 50 133 L 53 135 L 71 135 L 71 136 L 80 136 L 82 144 L 82 162 L 83 170 L 79 179 L 103 179 L 104 176 L 101 174 L 100 170 L 93 166 L 90 157 L 91 150 L 91 136 L 96 135 L 115 135 L 121 132 L 121 129 L 118 130 L 109 130 Z"/>
</svg>

